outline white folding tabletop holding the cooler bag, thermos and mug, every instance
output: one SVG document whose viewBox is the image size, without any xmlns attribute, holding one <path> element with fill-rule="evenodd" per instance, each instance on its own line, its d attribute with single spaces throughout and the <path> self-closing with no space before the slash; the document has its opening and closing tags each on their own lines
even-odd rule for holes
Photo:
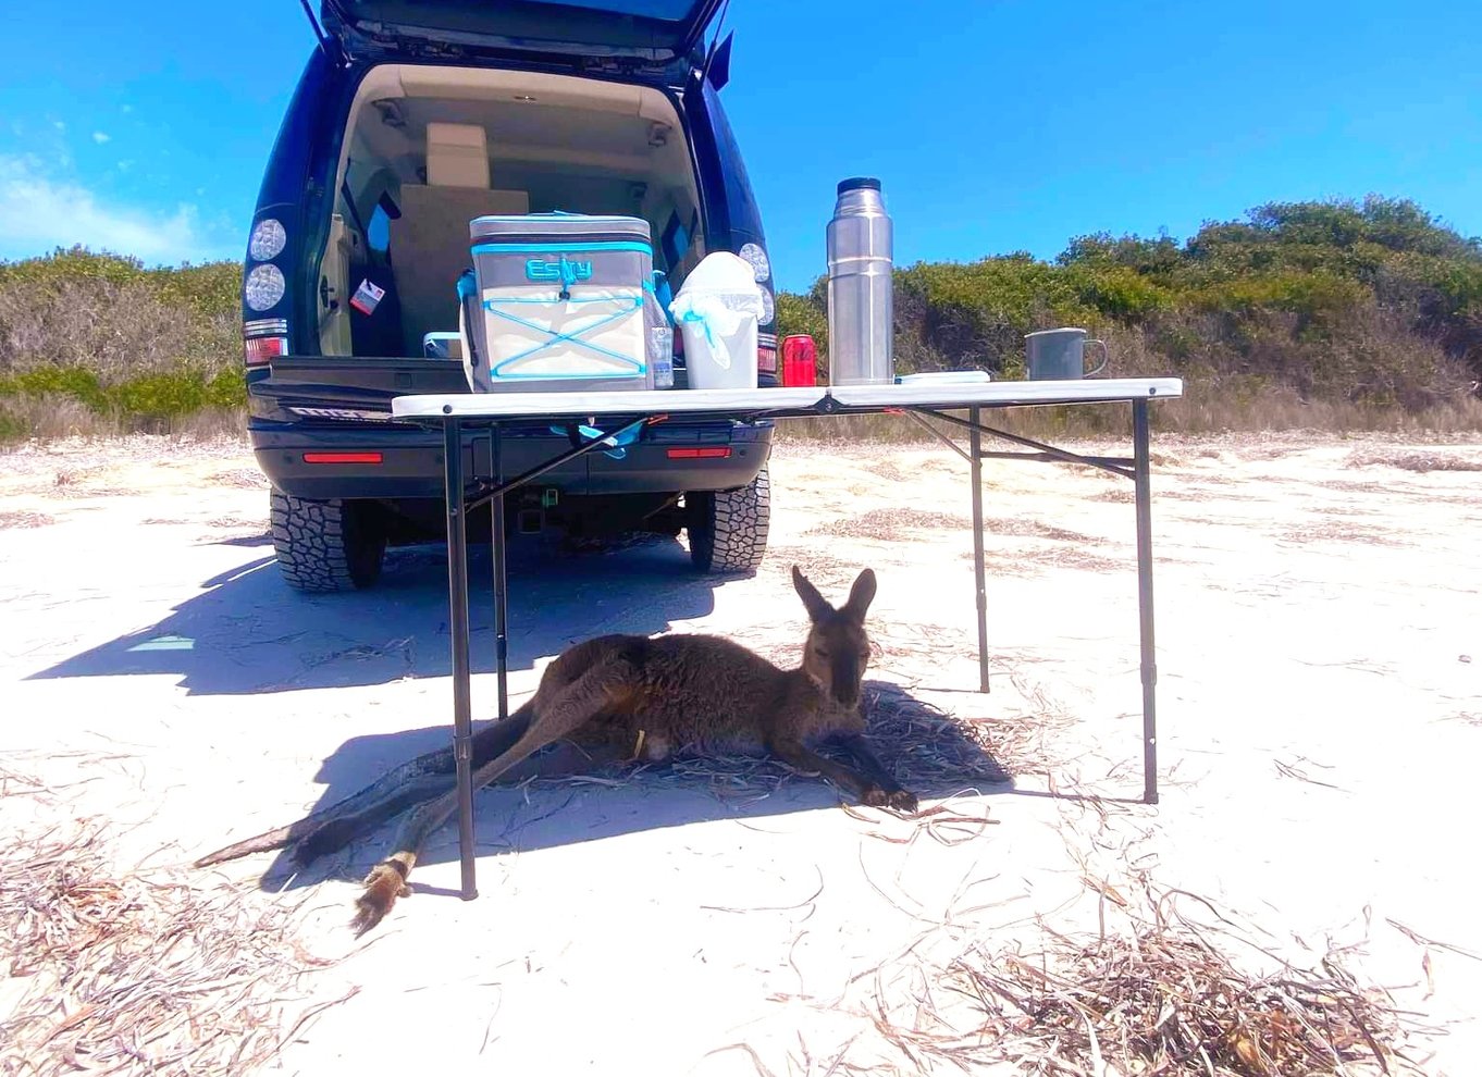
<svg viewBox="0 0 1482 1077">
<path fill-rule="evenodd" d="M 633 390 L 619 393 L 440 393 L 396 397 L 396 418 L 571 418 L 664 412 L 806 410 L 833 397 L 843 407 L 1012 407 L 1172 400 L 1181 378 L 1085 378 L 948 385 L 834 385 L 756 390 Z"/>
</svg>

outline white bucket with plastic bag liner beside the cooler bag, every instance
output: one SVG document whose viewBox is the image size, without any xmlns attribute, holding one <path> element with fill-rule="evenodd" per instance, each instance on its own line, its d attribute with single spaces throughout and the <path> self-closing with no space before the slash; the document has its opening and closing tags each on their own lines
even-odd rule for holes
<svg viewBox="0 0 1482 1077">
<path fill-rule="evenodd" d="M 754 390 L 762 290 L 751 264 L 728 250 L 707 255 L 668 305 L 685 341 L 692 390 Z"/>
</svg>

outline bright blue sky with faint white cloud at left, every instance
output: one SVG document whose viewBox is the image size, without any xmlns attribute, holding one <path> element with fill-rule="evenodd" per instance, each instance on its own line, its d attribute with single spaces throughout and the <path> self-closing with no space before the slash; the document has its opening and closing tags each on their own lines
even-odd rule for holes
<svg viewBox="0 0 1482 1077">
<path fill-rule="evenodd" d="M 239 258 L 313 47 L 298 4 L 13 7 L 0 258 Z M 885 184 L 901 264 L 1184 239 L 1263 201 L 1368 193 L 1482 233 L 1475 0 L 732 0 L 728 25 L 722 99 L 784 287 L 824 270 L 834 184 L 860 173 Z"/>
</svg>

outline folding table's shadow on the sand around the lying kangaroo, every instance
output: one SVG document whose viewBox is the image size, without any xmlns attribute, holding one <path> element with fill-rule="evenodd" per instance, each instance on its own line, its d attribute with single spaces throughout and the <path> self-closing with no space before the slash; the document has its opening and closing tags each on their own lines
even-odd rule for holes
<svg viewBox="0 0 1482 1077">
<path fill-rule="evenodd" d="M 1014 793 L 1012 776 L 940 710 L 898 684 L 864 684 L 870 735 L 880 761 L 919 797 L 966 793 Z M 488 723 L 474 723 L 482 729 Z M 391 767 L 422 753 L 446 748 L 446 724 L 394 733 L 353 736 L 323 760 L 323 782 L 311 812 L 360 791 Z M 821 747 L 821 751 L 828 753 Z M 920 758 L 934 764 L 922 773 Z M 480 856 L 496 852 L 579 844 L 668 827 L 717 819 L 763 821 L 800 810 L 855 804 L 854 798 L 815 775 L 800 775 L 772 758 L 679 760 L 670 764 L 581 767 L 569 745 L 551 745 L 517 770 L 474 793 L 474 831 Z M 554 775 L 551 772 L 556 772 Z M 534 779 L 534 781 L 532 781 Z M 452 788 L 452 779 L 449 779 Z M 328 878 L 360 880 L 388 852 L 402 816 L 375 827 L 344 850 L 308 865 L 290 849 L 274 853 L 259 878 L 264 890 L 299 889 Z M 285 815 L 277 825 L 295 821 Z M 219 844 L 242 840 L 224 836 Z M 207 849 L 196 855 L 205 855 Z M 458 861 L 458 827 L 445 822 L 427 841 L 419 865 Z M 448 890 L 419 884 L 412 890 Z"/>
</svg>

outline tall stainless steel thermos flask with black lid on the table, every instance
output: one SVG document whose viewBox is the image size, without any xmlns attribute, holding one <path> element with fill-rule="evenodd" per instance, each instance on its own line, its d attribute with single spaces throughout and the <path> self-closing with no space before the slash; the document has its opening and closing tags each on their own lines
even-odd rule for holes
<svg viewBox="0 0 1482 1077">
<path fill-rule="evenodd" d="M 894 234 L 880 181 L 839 184 L 828 222 L 828 384 L 891 385 Z"/>
</svg>

